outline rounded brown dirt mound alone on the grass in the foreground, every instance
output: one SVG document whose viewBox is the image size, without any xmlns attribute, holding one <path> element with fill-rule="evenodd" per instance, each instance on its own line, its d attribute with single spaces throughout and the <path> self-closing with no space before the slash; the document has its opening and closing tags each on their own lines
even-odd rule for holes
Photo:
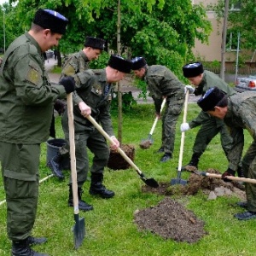
<svg viewBox="0 0 256 256">
<path fill-rule="evenodd" d="M 193 243 L 207 235 L 204 222 L 177 201 L 166 197 L 156 207 L 135 212 L 139 230 L 150 230 L 166 239 Z"/>
</svg>

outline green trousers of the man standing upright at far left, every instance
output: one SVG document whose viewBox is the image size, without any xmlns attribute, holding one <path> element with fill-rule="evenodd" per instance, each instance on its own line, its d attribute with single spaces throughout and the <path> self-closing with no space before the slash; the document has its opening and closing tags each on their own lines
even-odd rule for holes
<svg viewBox="0 0 256 256">
<path fill-rule="evenodd" d="M 40 145 L 0 142 L 10 240 L 31 235 L 38 208 Z"/>
</svg>

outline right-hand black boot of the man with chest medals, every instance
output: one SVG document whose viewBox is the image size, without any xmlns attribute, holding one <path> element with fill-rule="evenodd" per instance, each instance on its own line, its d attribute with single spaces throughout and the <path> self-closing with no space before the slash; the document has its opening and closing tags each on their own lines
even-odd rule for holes
<svg viewBox="0 0 256 256">
<path fill-rule="evenodd" d="M 90 181 L 90 195 L 100 195 L 102 198 L 111 198 L 114 195 L 114 192 L 106 189 L 102 184 L 103 174 L 102 173 L 91 173 Z"/>
</svg>

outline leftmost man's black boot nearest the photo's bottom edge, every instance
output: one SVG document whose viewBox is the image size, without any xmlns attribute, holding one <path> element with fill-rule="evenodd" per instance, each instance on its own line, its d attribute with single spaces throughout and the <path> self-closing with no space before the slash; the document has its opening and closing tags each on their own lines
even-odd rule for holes
<svg viewBox="0 0 256 256">
<path fill-rule="evenodd" d="M 28 239 L 13 241 L 12 256 L 49 256 L 44 253 L 37 253 L 29 247 Z"/>
</svg>

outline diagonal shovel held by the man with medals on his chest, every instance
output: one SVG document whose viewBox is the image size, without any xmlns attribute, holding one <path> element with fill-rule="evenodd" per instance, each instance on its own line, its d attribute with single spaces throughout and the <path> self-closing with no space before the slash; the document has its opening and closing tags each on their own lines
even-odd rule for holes
<svg viewBox="0 0 256 256">
<path fill-rule="evenodd" d="M 99 125 L 93 117 L 89 115 L 86 118 L 90 120 L 90 123 L 94 125 L 98 131 L 100 131 L 103 137 L 105 137 L 111 144 L 114 144 L 113 139 L 108 135 L 106 131 L 102 129 L 102 126 Z M 123 158 L 135 169 L 135 171 L 141 177 L 144 183 L 146 183 L 149 187 L 152 188 L 159 187 L 159 184 L 154 180 L 154 178 L 145 177 L 143 172 L 140 171 L 140 169 L 134 164 L 134 162 L 125 154 L 125 152 L 121 148 L 117 148 L 117 150 L 119 151 L 119 154 L 121 154 Z"/>
</svg>

